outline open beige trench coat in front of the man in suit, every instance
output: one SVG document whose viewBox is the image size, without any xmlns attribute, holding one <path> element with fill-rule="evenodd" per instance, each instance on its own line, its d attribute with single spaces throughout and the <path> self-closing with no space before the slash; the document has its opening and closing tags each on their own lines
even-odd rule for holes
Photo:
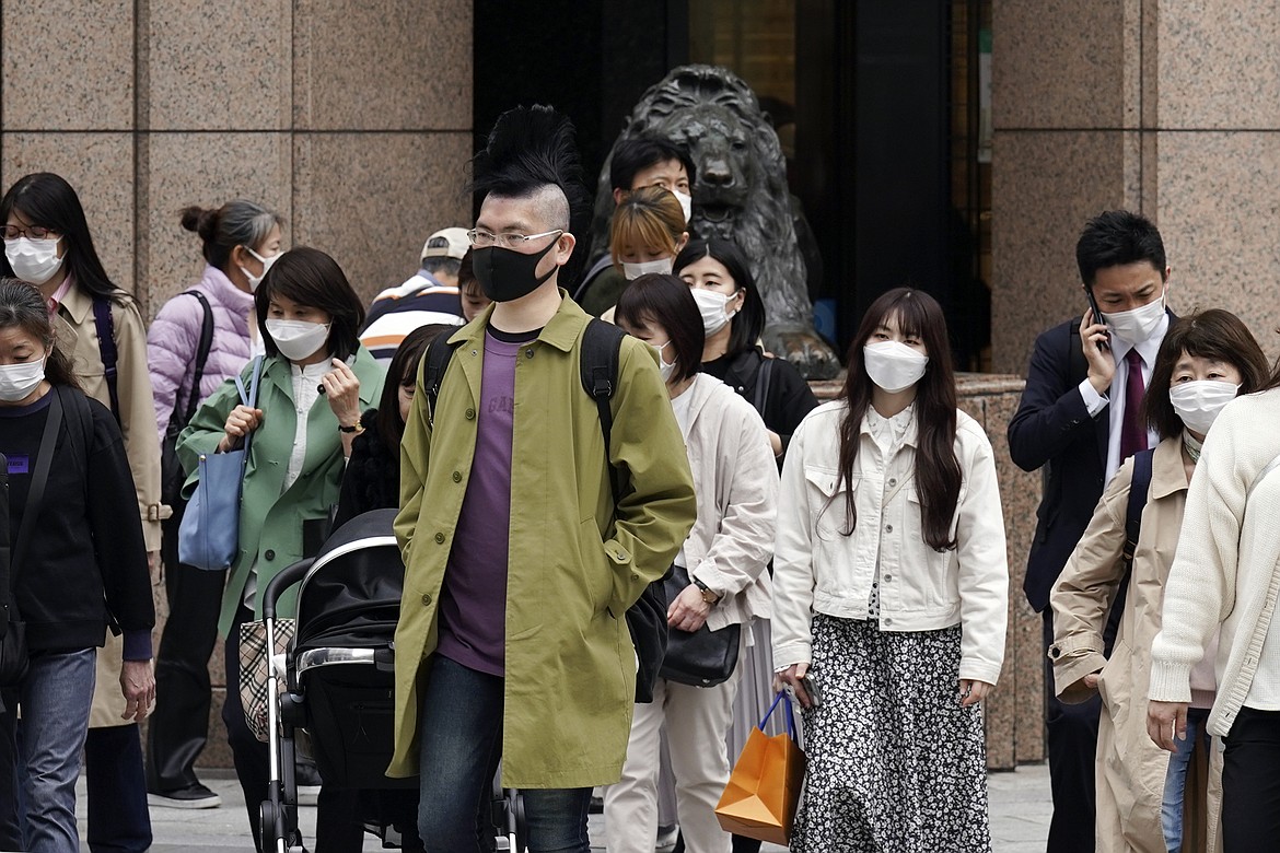
<svg viewBox="0 0 1280 853">
<path fill-rule="evenodd" d="M 1050 597 L 1056 633 L 1048 655 L 1053 660 L 1057 696 L 1064 702 L 1088 700 L 1093 691 L 1083 679 L 1101 670 L 1097 691 L 1106 712 L 1098 726 L 1098 853 L 1166 850 L 1160 807 L 1169 753 L 1147 734 L 1146 697 L 1151 641 L 1160 632 L 1165 579 L 1174 561 L 1187 504 L 1189 477 L 1181 448 L 1180 435 L 1165 439 L 1152 458 L 1151 491 L 1142 513 L 1133 577 L 1110 660 L 1102 655 L 1102 630 L 1125 573 L 1121 554 L 1133 482 L 1132 459 L 1116 472 L 1102 495 Z M 1196 758 L 1188 770 L 1184 850 L 1212 853 L 1220 849 L 1222 755 L 1217 748 L 1210 752 L 1207 795 L 1197 795 L 1194 790 L 1198 786 L 1193 781 Z M 1206 807 L 1196 808 L 1193 803 Z M 1204 844 L 1199 845 L 1196 839 L 1204 839 Z"/>
</svg>

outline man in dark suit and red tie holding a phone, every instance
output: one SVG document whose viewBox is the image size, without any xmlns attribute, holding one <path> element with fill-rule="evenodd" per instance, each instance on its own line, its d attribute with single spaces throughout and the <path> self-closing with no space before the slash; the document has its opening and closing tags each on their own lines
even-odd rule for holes
<svg viewBox="0 0 1280 853">
<path fill-rule="evenodd" d="M 1053 642 L 1050 591 L 1103 487 L 1126 457 L 1156 445 L 1139 409 L 1172 316 L 1165 304 L 1170 272 L 1165 246 L 1146 217 L 1107 211 L 1089 220 L 1075 257 L 1084 290 L 1102 318 L 1087 309 L 1036 339 L 1023 399 L 1009 423 L 1014 463 L 1044 473 L 1024 590 L 1044 616 L 1046 651 Z M 1048 665 L 1046 670 L 1053 790 L 1047 849 L 1089 853 L 1101 702 L 1094 696 L 1083 705 L 1064 705 L 1053 696 Z"/>
</svg>

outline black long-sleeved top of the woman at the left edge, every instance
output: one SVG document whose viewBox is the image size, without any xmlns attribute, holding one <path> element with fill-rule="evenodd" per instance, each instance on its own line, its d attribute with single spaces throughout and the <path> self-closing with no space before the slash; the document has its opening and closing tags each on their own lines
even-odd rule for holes
<svg viewBox="0 0 1280 853">
<path fill-rule="evenodd" d="M 31 551 L 23 565 L 12 568 L 27 643 L 33 651 L 101 646 L 113 623 L 125 633 L 125 657 L 150 657 L 155 607 L 124 441 L 106 407 L 78 390 L 63 390 L 63 423 Z M 14 542 L 55 393 L 31 405 L 0 407 Z M 73 395 L 88 404 L 88 423 Z"/>
</svg>

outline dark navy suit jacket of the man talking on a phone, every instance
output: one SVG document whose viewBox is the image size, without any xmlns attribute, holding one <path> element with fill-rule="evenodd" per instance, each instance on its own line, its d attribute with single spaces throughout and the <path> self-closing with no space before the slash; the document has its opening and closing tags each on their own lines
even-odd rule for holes
<svg viewBox="0 0 1280 853">
<path fill-rule="evenodd" d="M 1169 312 L 1170 322 L 1176 315 Z M 1018 413 L 1009 422 L 1009 455 L 1023 471 L 1043 472 L 1036 537 L 1023 590 L 1038 611 L 1066 565 L 1106 486 L 1110 405 L 1091 418 L 1078 390 L 1088 373 L 1080 318 L 1041 333 L 1027 368 Z"/>
</svg>

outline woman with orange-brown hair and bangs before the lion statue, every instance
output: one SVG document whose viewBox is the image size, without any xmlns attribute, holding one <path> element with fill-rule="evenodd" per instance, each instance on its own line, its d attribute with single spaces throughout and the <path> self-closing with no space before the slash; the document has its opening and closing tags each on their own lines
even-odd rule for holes
<svg viewBox="0 0 1280 853">
<path fill-rule="evenodd" d="M 671 275 L 676 256 L 687 242 L 685 210 L 675 194 L 662 187 L 631 191 L 613 211 L 609 225 L 609 254 L 622 279 L 599 280 L 582 309 L 613 322 L 613 306 L 627 283 L 646 272 Z"/>
</svg>

